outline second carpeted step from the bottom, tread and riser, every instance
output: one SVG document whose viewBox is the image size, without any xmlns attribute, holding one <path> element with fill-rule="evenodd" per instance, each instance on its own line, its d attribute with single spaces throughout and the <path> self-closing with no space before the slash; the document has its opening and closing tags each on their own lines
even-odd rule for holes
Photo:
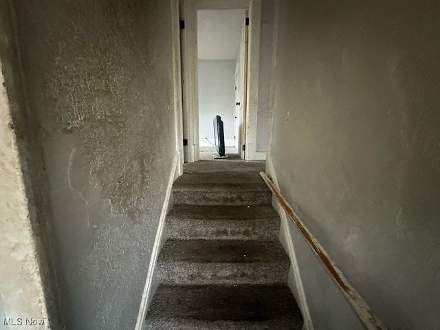
<svg viewBox="0 0 440 330">
<path fill-rule="evenodd" d="M 287 283 L 289 259 L 277 241 L 168 240 L 157 267 L 166 284 Z"/>
</svg>

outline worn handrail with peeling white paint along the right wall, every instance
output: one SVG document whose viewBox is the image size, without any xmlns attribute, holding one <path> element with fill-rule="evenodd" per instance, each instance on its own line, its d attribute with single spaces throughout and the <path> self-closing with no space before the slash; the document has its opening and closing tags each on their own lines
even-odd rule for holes
<svg viewBox="0 0 440 330">
<path fill-rule="evenodd" d="M 281 195 L 281 192 L 276 188 L 270 177 L 267 176 L 266 173 L 260 172 L 261 177 L 263 177 L 267 186 L 269 186 L 270 190 L 274 193 L 278 203 L 280 203 L 281 207 L 285 210 L 292 221 L 295 223 L 298 230 L 303 234 L 305 240 L 309 244 L 311 250 L 318 256 L 319 261 L 324 265 L 325 270 L 329 272 L 331 279 L 336 283 L 344 297 L 347 299 L 353 310 L 355 311 L 356 316 L 358 316 L 360 322 L 364 325 L 365 329 L 368 330 L 386 330 L 385 325 L 381 322 L 379 318 L 374 314 L 371 310 L 371 307 L 366 303 L 364 298 L 359 294 L 358 290 L 356 290 L 353 285 L 349 283 L 347 278 L 342 274 L 339 267 L 334 263 L 329 254 L 322 248 L 322 245 L 318 242 L 316 237 L 311 234 L 311 232 L 304 225 L 303 221 L 296 215 L 294 210 L 289 203 L 284 199 Z"/>
</svg>

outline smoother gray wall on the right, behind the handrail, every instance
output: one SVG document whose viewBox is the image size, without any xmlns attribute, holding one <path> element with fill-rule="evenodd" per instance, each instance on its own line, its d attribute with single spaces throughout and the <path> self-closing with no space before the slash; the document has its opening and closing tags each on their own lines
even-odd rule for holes
<svg viewBox="0 0 440 330">
<path fill-rule="evenodd" d="M 281 1 L 283 195 L 389 329 L 440 329 L 440 4 Z M 362 329 L 294 232 L 315 329 Z"/>
</svg>

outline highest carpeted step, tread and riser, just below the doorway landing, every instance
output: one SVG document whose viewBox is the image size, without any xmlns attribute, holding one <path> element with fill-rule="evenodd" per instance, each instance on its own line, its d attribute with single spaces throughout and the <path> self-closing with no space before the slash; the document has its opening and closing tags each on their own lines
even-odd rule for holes
<svg viewBox="0 0 440 330">
<path fill-rule="evenodd" d="M 268 206 L 272 193 L 258 172 L 185 173 L 173 185 L 175 205 Z"/>
</svg>

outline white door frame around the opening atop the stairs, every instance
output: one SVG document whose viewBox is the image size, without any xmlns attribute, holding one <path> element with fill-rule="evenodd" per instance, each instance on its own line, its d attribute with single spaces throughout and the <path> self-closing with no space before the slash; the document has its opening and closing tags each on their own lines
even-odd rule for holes
<svg viewBox="0 0 440 330">
<path fill-rule="evenodd" d="M 250 41 L 248 54 L 248 91 L 245 129 L 246 160 L 265 159 L 256 151 L 256 123 L 259 94 L 259 52 L 261 0 L 183 0 L 180 18 L 185 21 L 181 33 L 181 65 L 183 94 L 185 162 L 197 162 L 199 155 L 199 91 L 197 70 L 197 10 L 249 9 Z"/>
</svg>

